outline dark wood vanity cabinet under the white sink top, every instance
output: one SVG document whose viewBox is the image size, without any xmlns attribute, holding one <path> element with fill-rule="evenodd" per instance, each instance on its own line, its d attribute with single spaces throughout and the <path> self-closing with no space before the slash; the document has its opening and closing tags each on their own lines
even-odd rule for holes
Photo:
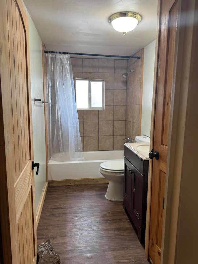
<svg viewBox="0 0 198 264">
<path fill-rule="evenodd" d="M 145 242 L 149 160 L 124 147 L 124 210 L 133 221 L 141 244 Z"/>
</svg>

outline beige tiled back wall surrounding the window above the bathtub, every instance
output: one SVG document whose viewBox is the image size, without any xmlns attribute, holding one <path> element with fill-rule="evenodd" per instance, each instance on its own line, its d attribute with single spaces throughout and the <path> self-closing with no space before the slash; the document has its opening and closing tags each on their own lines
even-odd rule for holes
<svg viewBox="0 0 198 264">
<path fill-rule="evenodd" d="M 127 60 L 71 58 L 75 78 L 105 80 L 105 110 L 78 110 L 84 151 L 123 149 Z"/>
</svg>

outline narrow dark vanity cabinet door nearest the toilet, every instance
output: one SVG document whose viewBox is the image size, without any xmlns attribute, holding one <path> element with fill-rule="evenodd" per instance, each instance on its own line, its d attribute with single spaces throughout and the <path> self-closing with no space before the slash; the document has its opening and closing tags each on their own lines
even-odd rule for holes
<svg viewBox="0 0 198 264">
<path fill-rule="evenodd" d="M 124 158 L 124 207 L 131 211 L 132 164 Z"/>
</svg>

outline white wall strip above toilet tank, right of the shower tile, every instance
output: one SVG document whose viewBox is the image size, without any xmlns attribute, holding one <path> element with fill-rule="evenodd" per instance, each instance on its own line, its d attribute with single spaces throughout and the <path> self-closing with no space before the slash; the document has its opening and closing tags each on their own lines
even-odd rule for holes
<svg viewBox="0 0 198 264">
<path fill-rule="evenodd" d="M 141 135 L 150 136 L 153 80 L 155 64 L 155 40 L 144 48 L 144 74 L 142 94 Z"/>
</svg>

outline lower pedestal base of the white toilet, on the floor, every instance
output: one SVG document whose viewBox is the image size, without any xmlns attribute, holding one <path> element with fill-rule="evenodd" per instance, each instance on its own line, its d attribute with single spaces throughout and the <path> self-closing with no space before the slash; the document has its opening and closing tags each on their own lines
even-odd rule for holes
<svg viewBox="0 0 198 264">
<path fill-rule="evenodd" d="M 109 181 L 105 198 L 110 201 L 123 201 L 123 182 Z"/>
</svg>

